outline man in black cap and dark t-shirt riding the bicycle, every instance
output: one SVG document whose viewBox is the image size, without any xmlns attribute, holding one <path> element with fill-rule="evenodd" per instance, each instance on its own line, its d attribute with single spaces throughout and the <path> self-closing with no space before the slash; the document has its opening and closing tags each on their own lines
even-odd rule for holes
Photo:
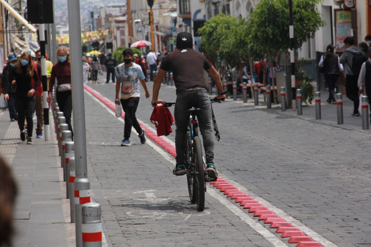
<svg viewBox="0 0 371 247">
<path fill-rule="evenodd" d="M 177 152 L 176 166 L 173 174 L 180 176 L 187 173 L 185 169 L 185 135 L 187 133 L 189 113 L 187 109 L 200 108 L 197 114 L 199 128 L 203 138 L 206 154 L 206 173 L 212 179 L 217 179 L 218 174 L 214 165 L 214 133 L 211 118 L 211 103 L 204 79 L 204 70 L 214 79 L 218 95 L 216 99 L 224 99 L 223 85 L 215 67 L 206 57 L 193 50 L 192 34 L 181 32 L 177 35 L 177 43 L 174 52 L 169 53 L 161 63 L 160 70 L 153 83 L 153 98 L 151 105 L 161 103 L 158 99 L 161 82 L 168 70 L 173 72 L 176 87 L 177 100 L 175 101 L 175 149 Z"/>
</svg>

